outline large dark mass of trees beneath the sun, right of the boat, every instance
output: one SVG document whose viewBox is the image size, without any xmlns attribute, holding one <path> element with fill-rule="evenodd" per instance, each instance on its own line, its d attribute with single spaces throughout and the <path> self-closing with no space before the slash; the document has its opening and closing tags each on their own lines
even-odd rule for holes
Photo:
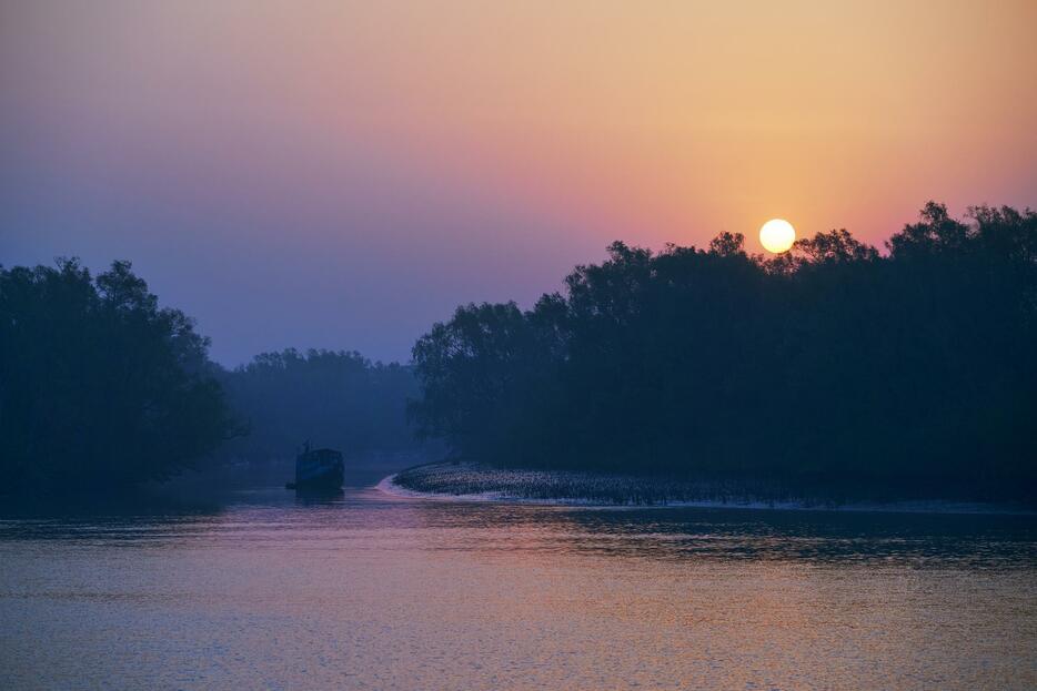
<svg viewBox="0 0 1037 691">
<path fill-rule="evenodd" d="M 422 434 L 506 466 L 1031 492 L 1037 214 L 929 203 L 887 253 L 614 243 L 414 347 Z"/>
</svg>

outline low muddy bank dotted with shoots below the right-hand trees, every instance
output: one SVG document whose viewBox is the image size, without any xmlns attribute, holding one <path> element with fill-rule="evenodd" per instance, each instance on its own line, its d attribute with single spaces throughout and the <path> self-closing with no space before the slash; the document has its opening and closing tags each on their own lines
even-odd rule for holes
<svg viewBox="0 0 1037 691">
<path fill-rule="evenodd" d="M 744 481 L 688 481 L 621 474 L 501 469 L 475 463 L 437 463 L 407 468 L 384 478 L 377 489 L 397 497 L 562 506 L 1034 514 L 1033 509 L 1017 505 L 802 496 L 787 489 Z"/>
</svg>

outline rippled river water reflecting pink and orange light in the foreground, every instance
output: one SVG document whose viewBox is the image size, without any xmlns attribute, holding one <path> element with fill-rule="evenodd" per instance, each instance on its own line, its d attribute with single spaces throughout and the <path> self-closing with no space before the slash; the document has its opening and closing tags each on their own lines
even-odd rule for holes
<svg viewBox="0 0 1037 691">
<path fill-rule="evenodd" d="M 0 687 L 1034 689 L 1031 517 L 240 492 L 0 520 Z"/>
</svg>

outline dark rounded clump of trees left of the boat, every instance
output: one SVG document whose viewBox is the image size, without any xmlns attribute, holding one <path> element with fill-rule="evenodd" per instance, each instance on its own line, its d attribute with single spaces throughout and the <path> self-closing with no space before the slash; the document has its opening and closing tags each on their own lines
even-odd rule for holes
<svg viewBox="0 0 1037 691">
<path fill-rule="evenodd" d="M 128 262 L 0 267 L 0 476 L 8 490 L 161 480 L 233 429 L 208 342 Z"/>
</svg>

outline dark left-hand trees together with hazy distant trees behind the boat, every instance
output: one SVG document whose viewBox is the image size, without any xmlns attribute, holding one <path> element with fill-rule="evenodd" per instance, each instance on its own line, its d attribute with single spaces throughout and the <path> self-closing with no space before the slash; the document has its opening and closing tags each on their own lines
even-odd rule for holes
<svg viewBox="0 0 1037 691">
<path fill-rule="evenodd" d="M 228 372 L 127 262 L 0 267 L 0 494 L 165 480 L 224 460 L 417 448 L 410 368 L 356 353 L 268 353 Z"/>
</svg>

